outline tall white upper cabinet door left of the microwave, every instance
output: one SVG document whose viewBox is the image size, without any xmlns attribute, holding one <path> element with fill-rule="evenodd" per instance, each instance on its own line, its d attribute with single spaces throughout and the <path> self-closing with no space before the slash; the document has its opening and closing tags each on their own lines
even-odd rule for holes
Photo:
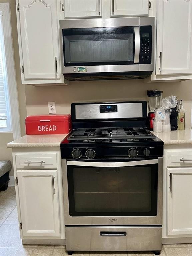
<svg viewBox="0 0 192 256">
<path fill-rule="evenodd" d="M 57 1 L 19 0 L 24 78 L 59 79 Z"/>
</svg>

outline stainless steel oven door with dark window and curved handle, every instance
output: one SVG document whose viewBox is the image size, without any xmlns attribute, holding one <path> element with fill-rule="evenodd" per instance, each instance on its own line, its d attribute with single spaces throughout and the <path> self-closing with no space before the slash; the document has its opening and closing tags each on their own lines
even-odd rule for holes
<svg viewBox="0 0 192 256">
<path fill-rule="evenodd" d="M 161 225 L 163 158 L 62 159 L 66 225 Z"/>
</svg>

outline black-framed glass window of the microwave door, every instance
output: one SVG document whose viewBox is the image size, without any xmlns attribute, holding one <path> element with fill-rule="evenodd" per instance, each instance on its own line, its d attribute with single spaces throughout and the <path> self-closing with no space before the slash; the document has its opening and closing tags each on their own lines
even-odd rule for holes
<svg viewBox="0 0 192 256">
<path fill-rule="evenodd" d="M 64 66 L 134 63 L 134 28 L 63 29 Z"/>
</svg>

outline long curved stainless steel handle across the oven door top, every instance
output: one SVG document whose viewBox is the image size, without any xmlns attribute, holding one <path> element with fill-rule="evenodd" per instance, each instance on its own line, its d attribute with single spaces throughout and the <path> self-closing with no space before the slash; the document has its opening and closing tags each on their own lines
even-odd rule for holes
<svg viewBox="0 0 192 256">
<path fill-rule="evenodd" d="M 146 164 L 158 164 L 158 159 L 142 160 L 133 162 L 81 162 L 81 161 L 67 161 L 67 165 L 76 166 L 89 166 L 89 167 L 126 167 L 126 166 L 138 166 Z"/>
</svg>

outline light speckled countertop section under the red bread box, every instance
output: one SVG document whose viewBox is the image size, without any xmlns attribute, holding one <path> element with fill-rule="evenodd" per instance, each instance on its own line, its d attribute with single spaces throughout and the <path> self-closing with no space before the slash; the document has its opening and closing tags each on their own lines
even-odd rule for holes
<svg viewBox="0 0 192 256">
<path fill-rule="evenodd" d="M 9 142 L 8 148 L 28 148 L 28 147 L 60 147 L 62 140 L 68 134 L 49 135 L 25 135 L 17 140 Z"/>
</svg>

